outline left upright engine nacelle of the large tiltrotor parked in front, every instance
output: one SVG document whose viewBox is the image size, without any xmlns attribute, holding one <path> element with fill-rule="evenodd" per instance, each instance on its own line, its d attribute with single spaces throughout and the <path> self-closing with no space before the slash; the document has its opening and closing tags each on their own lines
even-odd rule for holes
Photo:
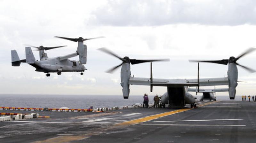
<svg viewBox="0 0 256 143">
<path fill-rule="evenodd" d="M 121 86 L 123 87 L 124 99 L 128 99 L 130 94 L 129 79 L 131 76 L 130 63 L 123 63 L 121 68 Z"/>
</svg>

